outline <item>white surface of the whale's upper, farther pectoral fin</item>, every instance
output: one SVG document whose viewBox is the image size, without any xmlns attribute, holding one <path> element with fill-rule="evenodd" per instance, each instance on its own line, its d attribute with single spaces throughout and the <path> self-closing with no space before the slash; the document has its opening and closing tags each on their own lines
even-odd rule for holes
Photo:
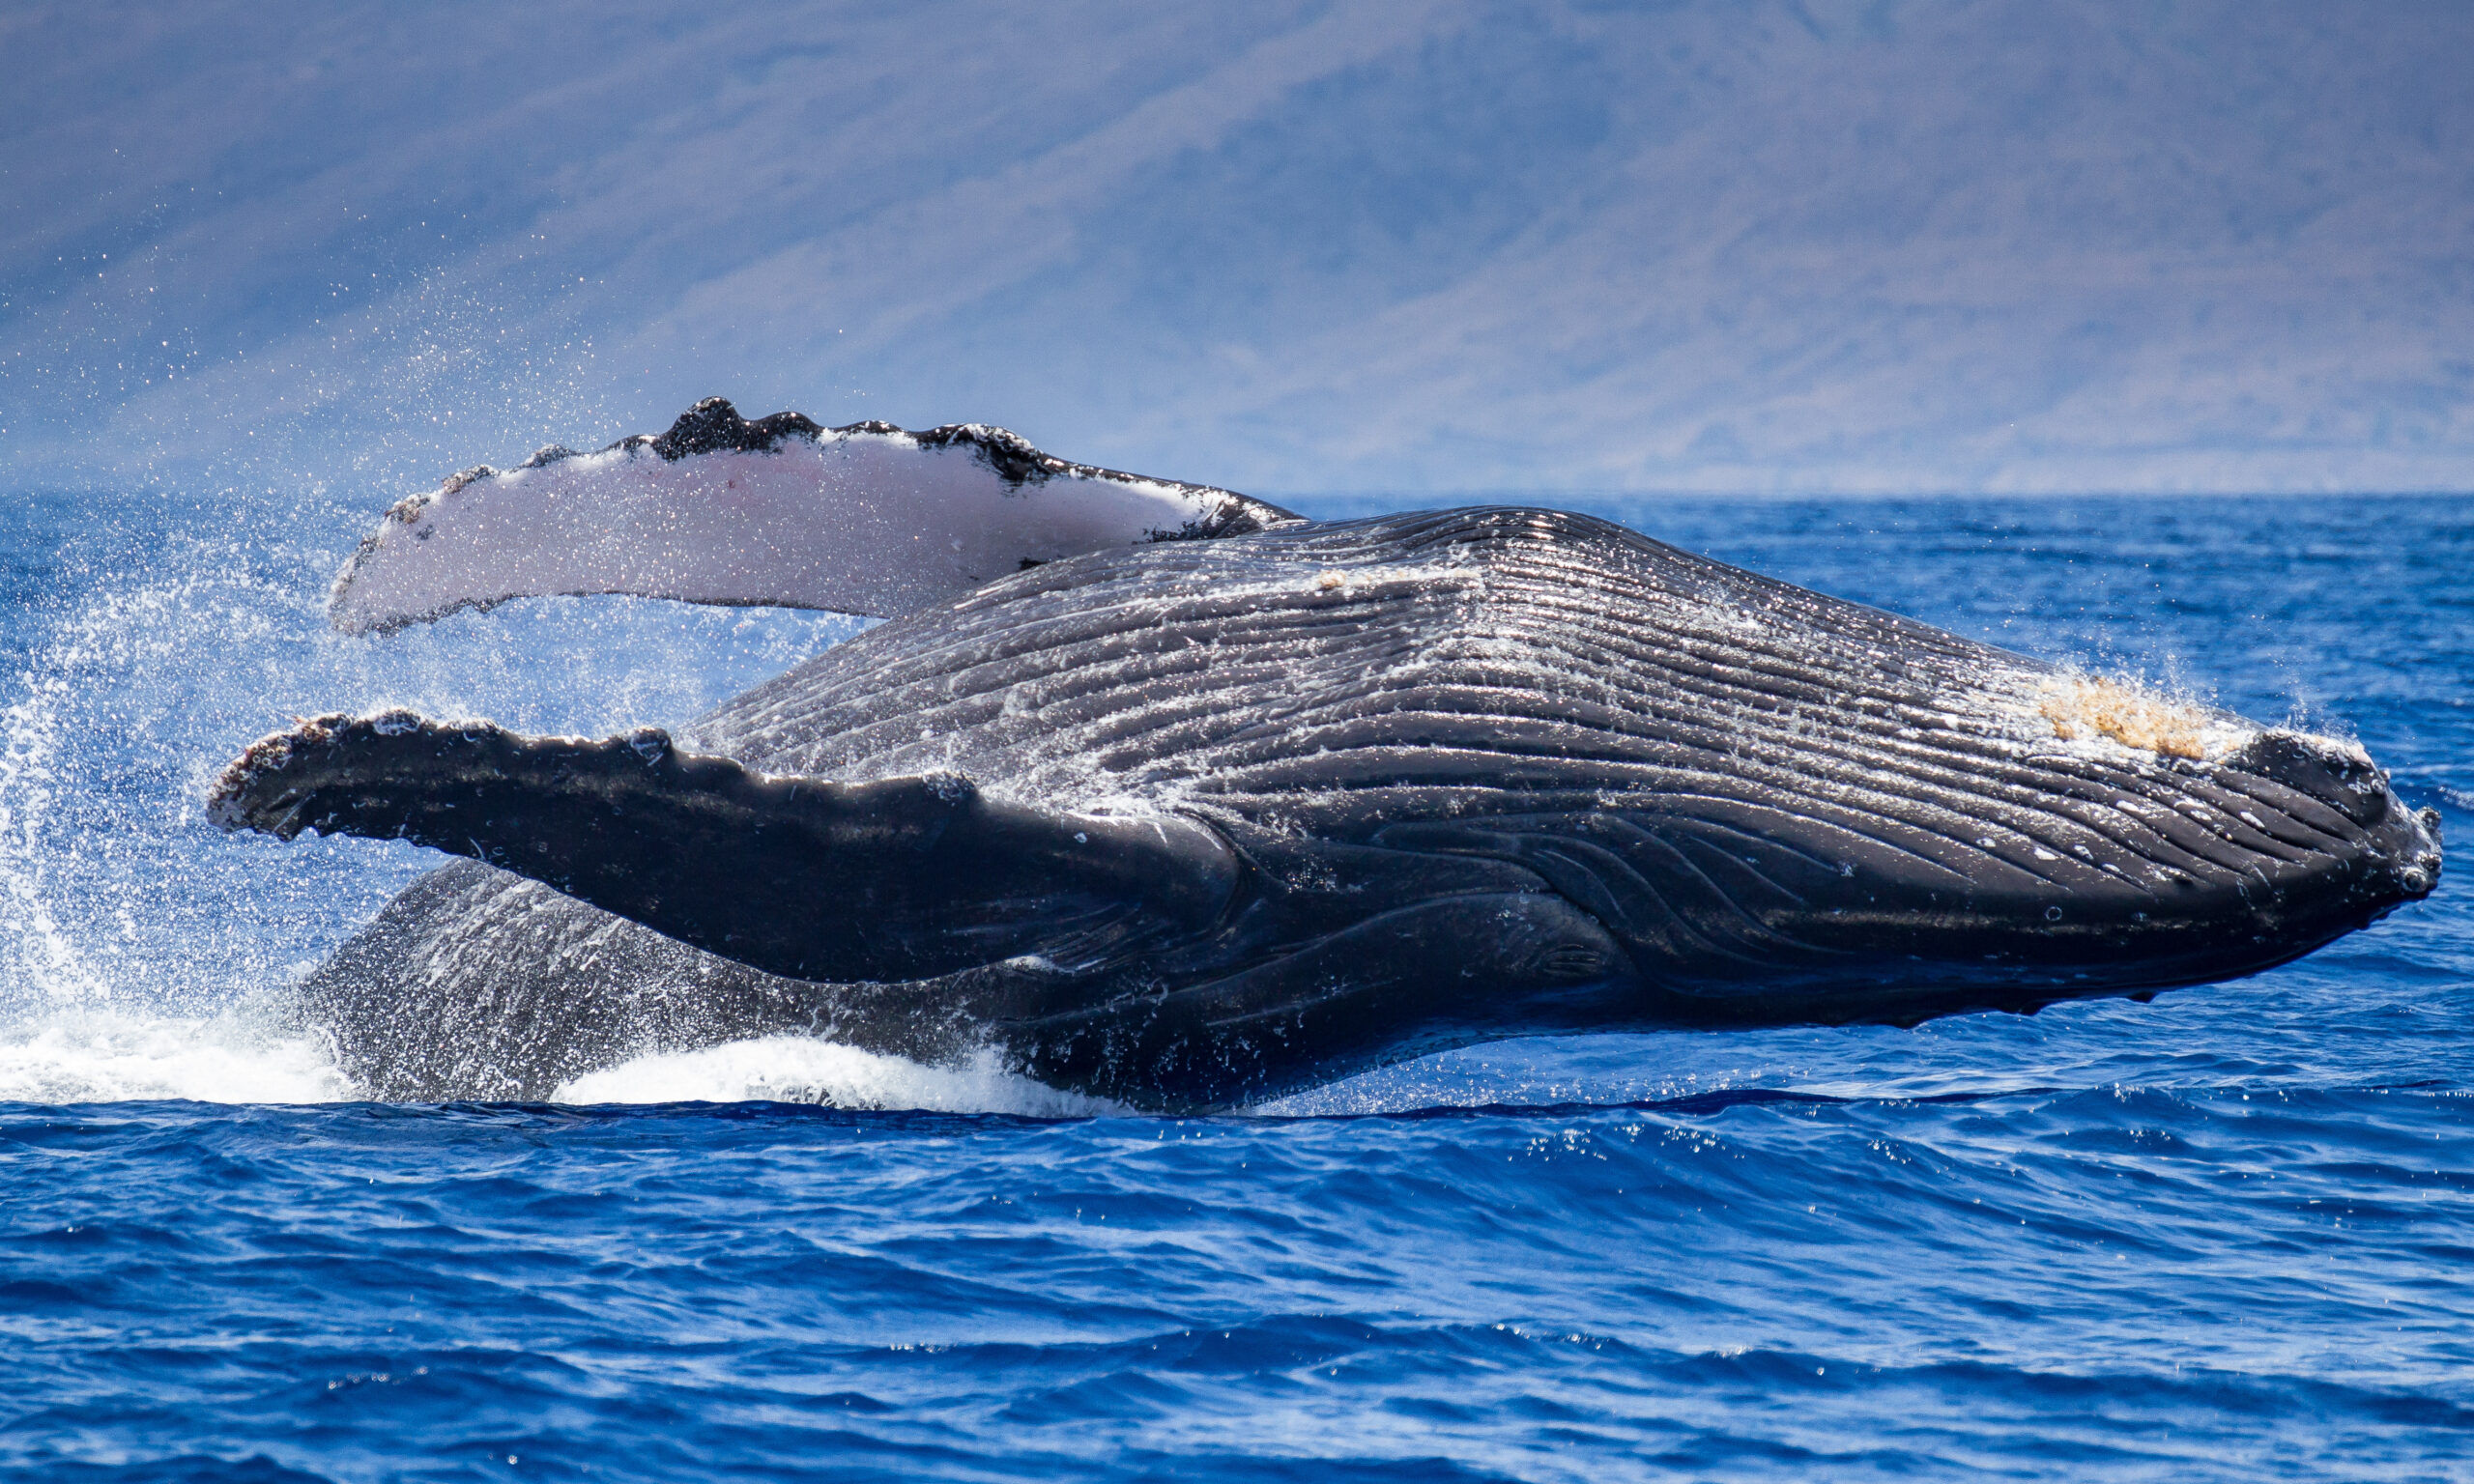
<svg viewBox="0 0 2474 1484">
<path fill-rule="evenodd" d="M 366 633 L 510 599 L 633 594 L 883 618 L 1024 564 L 1178 534 L 1235 500 L 1079 465 L 1007 482 L 972 445 L 910 433 L 678 460 L 623 443 L 403 500 L 344 564 L 329 616 Z"/>
</svg>

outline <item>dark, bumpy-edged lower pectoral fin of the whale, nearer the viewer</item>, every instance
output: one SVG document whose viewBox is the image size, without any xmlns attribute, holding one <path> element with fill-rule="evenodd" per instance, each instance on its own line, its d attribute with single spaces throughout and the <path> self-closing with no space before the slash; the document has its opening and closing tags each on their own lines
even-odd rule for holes
<svg viewBox="0 0 2474 1484">
<path fill-rule="evenodd" d="M 411 712 L 317 717 L 252 744 L 208 819 L 418 841 L 757 970 L 836 982 L 1141 952 L 1215 925 L 1242 871 L 1183 816 L 1027 809 L 957 774 L 764 777 L 656 730 L 586 742 Z"/>
</svg>

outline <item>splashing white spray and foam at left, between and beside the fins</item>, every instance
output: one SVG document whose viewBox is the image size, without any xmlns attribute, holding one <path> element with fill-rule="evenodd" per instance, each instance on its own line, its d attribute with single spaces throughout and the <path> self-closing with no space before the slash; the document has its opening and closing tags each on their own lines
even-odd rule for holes
<svg viewBox="0 0 2474 1484">
<path fill-rule="evenodd" d="M 218 1017 L 297 982 L 438 858 L 374 841 L 275 848 L 210 829 L 200 796 L 215 769 L 294 715 L 411 705 L 534 732 L 675 727 L 856 628 L 819 613 L 547 599 L 344 638 L 324 621 L 327 576 L 364 517 L 235 492 L 27 497 L 0 517 L 17 522 L 0 529 L 15 549 L 64 552 L 0 628 L 17 660 L 0 688 L 10 1086 L 334 1096 L 292 1039 Z M 79 1019 L 104 1009 L 119 1019 Z M 190 1066 L 238 1056 L 252 1034 L 265 1078 Z M 166 1064 L 151 1081 L 134 1068 L 146 1056 Z M 79 1071 L 89 1061 L 109 1071 Z"/>
</svg>

